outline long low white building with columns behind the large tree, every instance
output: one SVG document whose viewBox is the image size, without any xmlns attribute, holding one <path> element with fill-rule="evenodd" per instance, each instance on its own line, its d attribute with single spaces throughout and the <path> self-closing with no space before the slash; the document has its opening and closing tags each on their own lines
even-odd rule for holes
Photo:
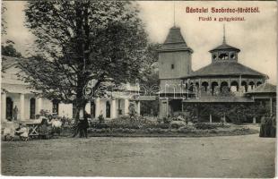
<svg viewBox="0 0 278 179">
<path fill-rule="evenodd" d="M 75 107 L 73 104 L 59 103 L 48 98 L 38 98 L 29 88 L 29 84 L 17 76 L 21 72 L 17 61 L 19 58 L 2 56 L 2 81 L 1 81 L 1 119 L 2 121 L 35 119 L 41 110 L 56 113 L 59 116 L 73 118 Z M 135 100 L 138 95 L 136 86 L 126 84 L 123 90 L 114 91 L 112 98 L 94 98 L 85 107 L 91 117 L 103 115 L 107 119 L 128 115 L 129 106 L 135 105 L 137 114 L 140 115 L 140 100 Z M 16 115 L 16 116 L 15 116 Z"/>
</svg>

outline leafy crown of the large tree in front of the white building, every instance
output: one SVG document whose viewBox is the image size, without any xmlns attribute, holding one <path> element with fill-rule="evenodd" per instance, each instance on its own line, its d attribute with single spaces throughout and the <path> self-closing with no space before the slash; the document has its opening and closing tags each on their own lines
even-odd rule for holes
<svg viewBox="0 0 278 179">
<path fill-rule="evenodd" d="M 84 108 L 101 85 L 134 81 L 141 74 L 147 36 L 138 8 L 126 1 L 32 1 L 26 26 L 36 53 L 21 75 L 38 95 Z M 94 80 L 90 98 L 83 91 Z"/>
</svg>

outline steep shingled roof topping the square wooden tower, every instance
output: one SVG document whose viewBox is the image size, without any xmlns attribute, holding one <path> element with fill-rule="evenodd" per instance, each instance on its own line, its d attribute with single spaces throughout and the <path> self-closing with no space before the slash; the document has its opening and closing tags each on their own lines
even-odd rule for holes
<svg viewBox="0 0 278 179">
<path fill-rule="evenodd" d="M 182 37 L 180 29 L 178 27 L 172 27 L 169 30 L 169 34 L 158 51 L 179 51 L 187 50 L 193 52 L 190 47 L 187 47 L 186 40 Z"/>
</svg>

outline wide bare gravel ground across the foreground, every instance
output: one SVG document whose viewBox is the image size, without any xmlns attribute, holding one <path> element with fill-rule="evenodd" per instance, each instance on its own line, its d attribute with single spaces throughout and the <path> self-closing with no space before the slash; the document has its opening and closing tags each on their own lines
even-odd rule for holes
<svg viewBox="0 0 278 179">
<path fill-rule="evenodd" d="M 275 139 L 61 138 L 3 141 L 3 175 L 274 177 Z"/>
</svg>

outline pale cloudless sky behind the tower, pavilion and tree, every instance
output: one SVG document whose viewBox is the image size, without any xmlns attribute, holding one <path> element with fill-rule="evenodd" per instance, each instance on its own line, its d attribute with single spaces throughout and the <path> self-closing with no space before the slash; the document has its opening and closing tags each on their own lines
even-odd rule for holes
<svg viewBox="0 0 278 179">
<path fill-rule="evenodd" d="M 163 43 L 169 28 L 175 24 L 181 29 L 187 46 L 194 50 L 193 70 L 211 63 L 208 52 L 222 44 L 223 24 L 230 46 L 238 47 L 239 63 L 269 76 L 269 82 L 277 82 L 277 8 L 276 2 L 265 1 L 139 1 L 140 17 L 151 42 Z M 22 55 L 28 55 L 33 47 L 33 35 L 24 27 L 24 1 L 4 2 L 7 11 L 7 35 Z M 175 11 L 174 11 L 175 4 Z M 188 7 L 259 7 L 260 13 L 187 13 Z M 175 13 L 174 13 L 175 12 Z M 175 15 L 174 15 L 175 14 Z M 175 18 L 174 18 L 175 16 Z M 199 17 L 243 17 L 245 21 L 199 21 Z"/>
</svg>

